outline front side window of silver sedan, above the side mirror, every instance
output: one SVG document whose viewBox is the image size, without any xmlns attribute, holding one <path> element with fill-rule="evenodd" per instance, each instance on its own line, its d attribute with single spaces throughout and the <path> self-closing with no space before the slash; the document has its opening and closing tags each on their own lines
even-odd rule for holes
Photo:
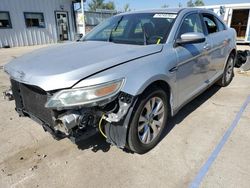
<svg viewBox="0 0 250 188">
<path fill-rule="evenodd" d="M 178 38 L 180 38 L 182 34 L 190 32 L 203 33 L 201 19 L 198 14 L 190 14 L 184 19 L 179 30 Z"/>
</svg>

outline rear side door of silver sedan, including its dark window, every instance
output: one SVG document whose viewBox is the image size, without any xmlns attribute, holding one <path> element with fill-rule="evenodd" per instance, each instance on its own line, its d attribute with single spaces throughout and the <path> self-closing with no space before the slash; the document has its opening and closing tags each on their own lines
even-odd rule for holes
<svg viewBox="0 0 250 188">
<path fill-rule="evenodd" d="M 202 14 L 202 20 L 206 28 L 207 40 L 211 44 L 206 49 L 207 58 L 210 62 L 207 67 L 208 81 L 213 82 L 223 73 L 228 44 L 231 39 L 227 34 L 226 26 L 214 15 Z"/>
</svg>

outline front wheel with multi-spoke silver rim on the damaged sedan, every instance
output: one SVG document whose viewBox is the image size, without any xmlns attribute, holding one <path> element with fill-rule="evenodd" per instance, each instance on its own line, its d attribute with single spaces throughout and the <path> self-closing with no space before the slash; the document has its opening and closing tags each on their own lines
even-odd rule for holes
<svg viewBox="0 0 250 188">
<path fill-rule="evenodd" d="M 146 90 L 138 99 L 133 114 L 128 131 L 128 147 L 135 153 L 144 154 L 158 144 L 166 127 L 166 92 L 158 87 Z"/>
</svg>

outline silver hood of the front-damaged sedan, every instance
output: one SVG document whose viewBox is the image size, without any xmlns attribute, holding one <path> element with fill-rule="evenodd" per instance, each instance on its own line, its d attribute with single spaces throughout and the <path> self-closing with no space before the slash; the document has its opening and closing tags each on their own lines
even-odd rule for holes
<svg viewBox="0 0 250 188">
<path fill-rule="evenodd" d="M 66 43 L 14 59 L 4 69 L 12 79 L 50 91 L 72 87 L 99 71 L 161 50 L 162 45 L 99 41 Z"/>
</svg>

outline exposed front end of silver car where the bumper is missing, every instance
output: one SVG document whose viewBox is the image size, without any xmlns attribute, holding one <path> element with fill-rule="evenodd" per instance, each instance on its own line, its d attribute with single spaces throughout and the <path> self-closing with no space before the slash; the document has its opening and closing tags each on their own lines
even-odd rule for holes
<svg viewBox="0 0 250 188">
<path fill-rule="evenodd" d="M 74 142 L 86 139 L 98 132 L 102 115 L 107 142 L 124 148 L 127 130 L 137 97 L 120 92 L 107 106 L 56 111 L 45 108 L 49 93 L 36 86 L 11 80 L 11 90 L 4 94 L 14 99 L 20 116 L 29 117 L 42 125 L 55 139 L 70 138 Z M 111 110 L 110 110 L 111 109 Z"/>
</svg>

